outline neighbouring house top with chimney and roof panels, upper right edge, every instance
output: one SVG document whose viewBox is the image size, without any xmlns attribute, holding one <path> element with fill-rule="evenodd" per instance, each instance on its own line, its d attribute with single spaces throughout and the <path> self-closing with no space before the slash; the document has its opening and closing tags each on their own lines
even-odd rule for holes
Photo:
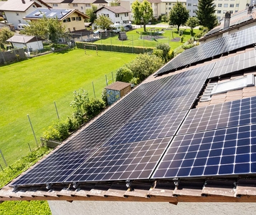
<svg viewBox="0 0 256 215">
<path fill-rule="evenodd" d="M 224 37 L 228 34 L 233 34 L 238 30 L 247 29 L 255 26 L 256 22 L 256 9 L 249 6 L 247 9 L 232 14 L 230 11 L 224 16 L 224 19 L 220 20 L 219 25 L 214 29 L 207 32 L 199 42 L 209 42 L 219 37 Z"/>
</svg>

